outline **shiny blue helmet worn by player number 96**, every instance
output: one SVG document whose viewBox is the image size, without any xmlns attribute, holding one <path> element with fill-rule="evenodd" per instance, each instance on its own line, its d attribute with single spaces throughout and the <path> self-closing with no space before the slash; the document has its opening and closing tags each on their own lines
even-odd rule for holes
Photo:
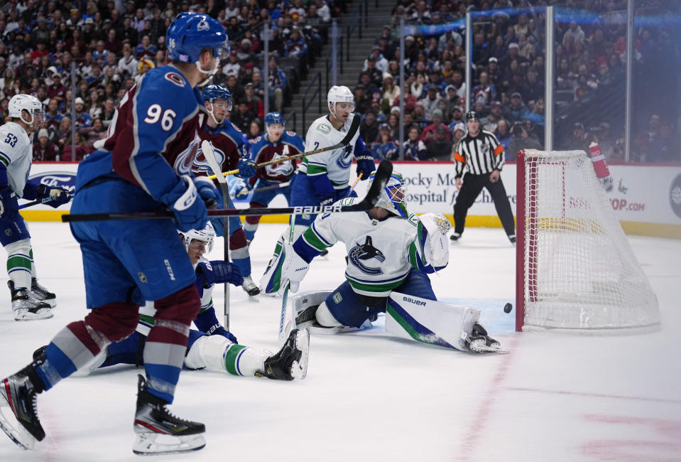
<svg viewBox="0 0 681 462">
<path fill-rule="evenodd" d="M 207 14 L 180 13 L 175 16 L 165 34 L 165 46 L 170 60 L 195 64 L 202 72 L 212 72 L 200 67 L 201 51 L 205 48 L 213 50 L 217 59 L 215 70 L 219 59 L 229 54 L 227 32 Z"/>
</svg>

